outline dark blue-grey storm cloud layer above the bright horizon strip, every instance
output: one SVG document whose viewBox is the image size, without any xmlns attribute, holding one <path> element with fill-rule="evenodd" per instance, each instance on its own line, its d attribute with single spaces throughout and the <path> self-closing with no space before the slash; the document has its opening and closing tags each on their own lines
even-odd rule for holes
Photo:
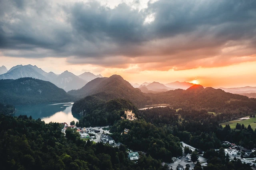
<svg viewBox="0 0 256 170">
<path fill-rule="evenodd" d="M 222 66 L 256 54 L 255 9 L 255 0 L 158 0 L 142 10 L 125 3 L 109 8 L 96 1 L 2 0 L 0 50 L 156 70 Z"/>
</svg>

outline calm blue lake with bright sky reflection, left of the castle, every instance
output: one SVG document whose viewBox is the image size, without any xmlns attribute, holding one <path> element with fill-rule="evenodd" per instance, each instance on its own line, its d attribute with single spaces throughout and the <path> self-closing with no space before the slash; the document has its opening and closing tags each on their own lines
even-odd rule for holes
<svg viewBox="0 0 256 170">
<path fill-rule="evenodd" d="M 45 123 L 49 122 L 66 122 L 78 121 L 79 115 L 72 115 L 71 108 L 74 103 L 56 103 L 56 104 L 36 104 L 15 106 L 15 116 L 31 115 L 33 119 L 40 118 Z"/>
</svg>

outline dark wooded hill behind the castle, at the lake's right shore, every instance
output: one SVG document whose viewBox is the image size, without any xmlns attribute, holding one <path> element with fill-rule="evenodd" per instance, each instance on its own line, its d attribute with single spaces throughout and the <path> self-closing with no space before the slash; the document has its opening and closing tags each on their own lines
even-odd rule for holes
<svg viewBox="0 0 256 170">
<path fill-rule="evenodd" d="M 80 113 L 83 117 L 76 125 L 80 127 L 106 126 L 113 125 L 125 110 L 133 110 L 137 113 L 138 109 L 129 100 L 113 99 L 109 101 L 101 100 L 95 96 L 87 96 L 84 99 L 74 103 L 72 113 Z"/>
</svg>

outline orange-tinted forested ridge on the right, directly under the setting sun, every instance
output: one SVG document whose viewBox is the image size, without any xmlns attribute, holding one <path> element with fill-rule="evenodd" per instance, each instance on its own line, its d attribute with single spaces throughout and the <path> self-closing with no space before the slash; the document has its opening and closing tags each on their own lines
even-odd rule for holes
<svg viewBox="0 0 256 170">
<path fill-rule="evenodd" d="M 191 86 L 187 90 L 169 90 L 168 92 L 148 95 L 152 99 L 152 104 L 167 103 L 173 107 L 217 107 L 218 109 L 237 109 L 238 107 L 255 109 L 256 107 L 255 99 L 227 93 L 221 89 L 204 88 L 200 85 Z"/>
</svg>

